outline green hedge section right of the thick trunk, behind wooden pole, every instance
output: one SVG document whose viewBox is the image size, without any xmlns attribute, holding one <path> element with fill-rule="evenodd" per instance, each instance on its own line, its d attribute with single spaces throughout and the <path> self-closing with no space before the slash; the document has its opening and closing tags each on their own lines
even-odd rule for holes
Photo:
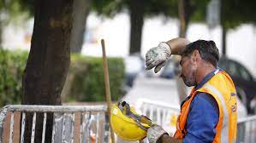
<svg viewBox="0 0 256 143">
<path fill-rule="evenodd" d="M 64 87 L 64 100 L 104 101 L 104 69 L 102 58 L 74 54 Z M 123 94 L 124 65 L 121 58 L 108 58 L 112 100 Z M 67 90 L 68 89 L 68 90 Z"/>
</svg>

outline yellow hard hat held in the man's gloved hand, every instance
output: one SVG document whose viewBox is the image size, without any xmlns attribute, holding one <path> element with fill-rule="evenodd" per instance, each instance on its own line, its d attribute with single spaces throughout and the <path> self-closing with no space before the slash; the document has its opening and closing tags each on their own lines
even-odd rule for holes
<svg viewBox="0 0 256 143">
<path fill-rule="evenodd" d="M 135 141 L 146 137 L 146 130 L 152 121 L 136 113 L 133 107 L 123 101 L 111 107 L 110 124 L 122 140 Z"/>
</svg>

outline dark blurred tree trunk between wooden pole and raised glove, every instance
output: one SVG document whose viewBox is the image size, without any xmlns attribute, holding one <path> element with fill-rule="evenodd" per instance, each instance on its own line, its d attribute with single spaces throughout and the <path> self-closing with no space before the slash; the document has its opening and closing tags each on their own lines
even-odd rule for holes
<svg viewBox="0 0 256 143">
<path fill-rule="evenodd" d="M 130 0 L 130 49 L 129 54 L 140 53 L 145 0 Z"/>
</svg>

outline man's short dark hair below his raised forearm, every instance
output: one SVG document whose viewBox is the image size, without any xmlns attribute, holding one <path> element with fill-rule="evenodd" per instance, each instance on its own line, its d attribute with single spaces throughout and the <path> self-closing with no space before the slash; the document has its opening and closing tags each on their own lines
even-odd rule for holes
<svg viewBox="0 0 256 143">
<path fill-rule="evenodd" d="M 199 54 L 203 60 L 210 62 L 213 66 L 217 66 L 219 52 L 213 41 L 197 40 L 193 43 L 189 43 L 186 48 L 182 50 L 182 56 L 192 54 L 195 49 L 199 50 Z"/>
</svg>

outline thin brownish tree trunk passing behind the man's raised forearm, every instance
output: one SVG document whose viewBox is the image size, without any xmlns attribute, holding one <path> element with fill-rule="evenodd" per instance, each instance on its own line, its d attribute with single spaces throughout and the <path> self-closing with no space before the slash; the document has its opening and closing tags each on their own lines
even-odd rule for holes
<svg viewBox="0 0 256 143">
<path fill-rule="evenodd" d="M 190 13 L 192 13 L 190 0 L 179 0 L 178 10 L 180 19 L 179 37 L 186 37 Z M 175 58 L 175 61 L 179 62 L 177 57 Z M 178 66 L 179 64 L 176 65 Z M 176 85 L 180 97 L 180 103 L 182 103 L 182 100 L 187 97 L 187 89 L 181 77 L 176 77 Z"/>
</svg>

